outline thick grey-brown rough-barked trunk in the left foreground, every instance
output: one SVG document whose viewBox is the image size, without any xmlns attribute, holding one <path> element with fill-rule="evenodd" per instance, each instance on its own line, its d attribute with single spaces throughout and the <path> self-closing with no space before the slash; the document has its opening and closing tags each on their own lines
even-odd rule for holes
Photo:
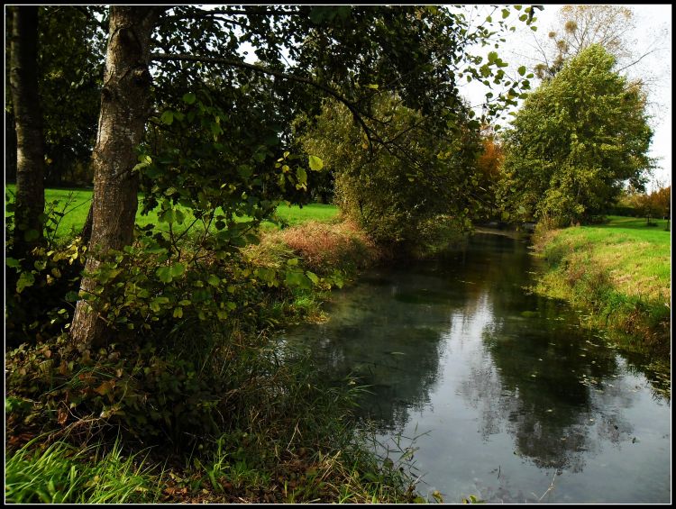
<svg viewBox="0 0 676 509">
<path fill-rule="evenodd" d="M 151 74 L 148 70 L 151 35 L 163 9 L 110 7 L 110 35 L 105 54 L 104 87 L 96 147 L 92 154 L 94 201 L 92 231 L 85 277 L 80 292 L 90 294 L 96 280 L 89 277 L 109 250 L 132 242 L 138 206 L 136 146 L 150 111 Z M 78 301 L 70 333 L 79 348 L 98 346 L 108 335 L 105 322 L 84 300 Z"/>
</svg>

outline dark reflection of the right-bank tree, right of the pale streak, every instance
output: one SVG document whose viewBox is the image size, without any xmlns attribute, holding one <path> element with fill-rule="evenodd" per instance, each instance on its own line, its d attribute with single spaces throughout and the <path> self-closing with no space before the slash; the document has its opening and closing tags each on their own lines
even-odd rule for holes
<svg viewBox="0 0 676 509">
<path fill-rule="evenodd" d="M 501 261 L 499 252 L 494 258 Z M 494 319 L 483 332 L 485 354 L 461 393 L 480 409 L 486 439 L 504 427 L 519 456 L 540 468 L 579 472 L 597 438 L 615 444 L 631 438 L 617 411 L 631 400 L 620 396 L 616 353 L 565 320 L 561 303 L 526 295 L 520 285 L 531 262 L 510 259 L 483 267 L 480 288 Z M 606 408 L 616 410 L 599 410 Z"/>
</svg>

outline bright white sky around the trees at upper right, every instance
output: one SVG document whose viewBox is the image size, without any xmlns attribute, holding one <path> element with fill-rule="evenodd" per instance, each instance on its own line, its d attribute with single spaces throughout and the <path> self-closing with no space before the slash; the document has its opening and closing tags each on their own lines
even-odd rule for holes
<svg viewBox="0 0 676 509">
<path fill-rule="evenodd" d="M 506 5 L 499 5 L 500 8 L 503 6 Z M 657 159 L 658 167 L 647 186 L 648 192 L 652 192 L 659 187 L 658 184 L 671 185 L 671 5 L 624 6 L 634 13 L 635 30 L 628 33 L 627 38 L 635 42 L 634 47 L 639 54 L 658 48 L 626 71 L 629 77 L 641 76 L 650 81 L 648 114 L 651 116 L 650 123 L 654 132 L 650 156 Z M 557 23 L 561 7 L 562 5 L 544 5 L 544 9 L 536 14 L 536 32 L 525 26 L 516 32 L 508 32 L 506 42 L 501 43 L 497 50 L 500 58 L 509 63 L 507 69 L 516 69 L 521 65 L 530 68 L 536 54 L 534 38 L 542 41 L 550 30 L 561 29 Z M 485 10 L 486 15 L 489 14 L 489 5 L 482 5 L 480 8 Z M 513 10 L 513 13 L 516 14 L 516 11 Z M 514 23 L 514 14 L 506 21 Z M 499 9 L 498 15 L 494 17 L 500 17 Z M 665 31 L 663 36 L 662 31 Z M 486 51 L 488 50 L 495 48 L 490 46 Z M 534 89 L 537 85 L 538 81 L 532 79 L 531 87 Z M 461 88 L 461 94 L 468 98 L 471 105 L 480 105 L 485 93 L 486 88 L 476 81 Z"/>
</svg>

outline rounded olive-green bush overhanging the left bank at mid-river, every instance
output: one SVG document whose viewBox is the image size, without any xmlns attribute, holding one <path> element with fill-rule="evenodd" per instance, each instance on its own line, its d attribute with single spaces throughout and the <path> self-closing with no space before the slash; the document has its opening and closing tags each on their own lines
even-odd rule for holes
<svg viewBox="0 0 676 509">
<path fill-rule="evenodd" d="M 466 124 L 467 111 L 444 138 L 429 136 L 425 117 L 397 97 L 378 95 L 374 111 L 384 143 L 370 147 L 343 105 L 327 102 L 314 127 L 301 137 L 335 178 L 343 214 L 380 245 L 416 245 L 421 225 L 443 214 L 458 219 L 480 205 L 473 198 L 479 140 Z"/>
</svg>

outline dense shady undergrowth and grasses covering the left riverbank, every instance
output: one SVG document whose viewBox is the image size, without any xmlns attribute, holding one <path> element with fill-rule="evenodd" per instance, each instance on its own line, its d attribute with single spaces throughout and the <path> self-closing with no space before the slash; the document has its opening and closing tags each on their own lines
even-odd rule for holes
<svg viewBox="0 0 676 509">
<path fill-rule="evenodd" d="M 60 245 L 8 267 L 7 502 L 420 501 L 405 465 L 376 456 L 353 421 L 365 389 L 327 386 L 274 339 L 321 319 L 323 293 L 379 258 L 353 225 L 262 232 L 166 273 L 138 244 L 114 253 L 93 301 L 114 333 L 86 350 L 67 327 L 87 253 Z"/>
</svg>

